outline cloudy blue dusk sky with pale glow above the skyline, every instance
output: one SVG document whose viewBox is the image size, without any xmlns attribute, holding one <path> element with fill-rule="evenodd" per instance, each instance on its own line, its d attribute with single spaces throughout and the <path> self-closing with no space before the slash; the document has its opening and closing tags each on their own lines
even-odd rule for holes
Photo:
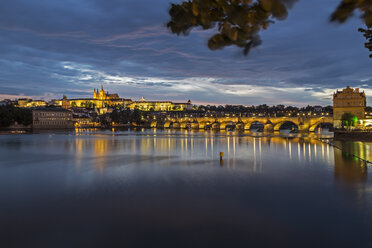
<svg viewBox="0 0 372 248">
<path fill-rule="evenodd" d="M 103 84 L 133 100 L 331 105 L 350 85 L 372 105 L 363 23 L 330 23 L 338 3 L 300 0 L 244 56 L 210 51 L 215 30 L 171 34 L 169 0 L 0 1 L 0 99 L 91 97 Z"/>
</svg>

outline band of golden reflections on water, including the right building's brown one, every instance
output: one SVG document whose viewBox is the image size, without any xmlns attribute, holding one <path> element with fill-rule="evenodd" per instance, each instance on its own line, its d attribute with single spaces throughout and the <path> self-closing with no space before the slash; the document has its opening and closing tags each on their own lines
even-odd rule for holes
<svg viewBox="0 0 372 248">
<path fill-rule="evenodd" d="M 223 152 L 223 165 L 226 168 L 251 168 L 253 172 L 262 173 L 265 164 L 273 163 L 276 159 L 299 165 L 320 162 L 334 169 L 337 180 L 363 182 L 366 180 L 367 167 L 355 157 L 350 159 L 345 152 L 372 160 L 371 143 L 336 142 L 336 146 L 341 148 L 339 150 L 310 137 L 252 137 L 231 132 L 174 130 L 110 134 L 97 133 L 95 130 L 83 134 L 79 132 L 76 136 L 73 148 L 78 170 L 86 156 L 91 156 L 94 169 L 103 172 L 110 165 L 113 155 L 166 156 L 181 161 L 214 163 L 219 161 L 219 153 Z"/>
</svg>

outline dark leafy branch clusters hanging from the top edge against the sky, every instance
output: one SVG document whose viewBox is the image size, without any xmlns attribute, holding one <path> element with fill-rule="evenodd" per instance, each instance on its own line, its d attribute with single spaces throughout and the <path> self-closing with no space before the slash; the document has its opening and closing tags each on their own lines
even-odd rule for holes
<svg viewBox="0 0 372 248">
<path fill-rule="evenodd" d="M 191 29 L 216 28 L 217 33 L 208 41 L 211 50 L 235 45 L 243 48 L 244 54 L 261 44 L 259 32 L 267 29 L 275 20 L 284 20 L 288 10 L 298 0 L 189 0 L 172 4 L 171 20 L 167 27 L 172 33 L 188 35 Z M 372 51 L 372 1 L 342 0 L 330 20 L 345 22 L 359 10 L 369 28 L 360 29 L 369 40 L 366 47 Z M 371 55 L 372 57 L 372 55 Z"/>
</svg>

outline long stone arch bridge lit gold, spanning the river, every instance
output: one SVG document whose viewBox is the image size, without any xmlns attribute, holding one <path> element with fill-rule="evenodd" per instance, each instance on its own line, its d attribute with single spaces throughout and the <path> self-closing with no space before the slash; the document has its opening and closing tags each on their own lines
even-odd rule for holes
<svg viewBox="0 0 372 248">
<path fill-rule="evenodd" d="M 291 122 L 300 132 L 314 132 L 324 123 L 333 125 L 332 117 L 182 117 L 168 118 L 164 124 L 153 121 L 151 127 L 160 128 L 190 128 L 190 129 L 216 129 L 225 130 L 226 127 L 235 127 L 239 130 L 249 130 L 253 123 L 264 125 L 265 132 L 279 131 L 284 123 Z"/>
</svg>

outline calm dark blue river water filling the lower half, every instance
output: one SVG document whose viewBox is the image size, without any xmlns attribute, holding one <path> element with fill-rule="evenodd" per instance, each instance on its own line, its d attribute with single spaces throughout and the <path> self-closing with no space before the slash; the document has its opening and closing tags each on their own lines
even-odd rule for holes
<svg viewBox="0 0 372 248">
<path fill-rule="evenodd" d="M 372 143 L 335 145 L 210 131 L 2 135 L 0 247 L 372 247 L 372 170 L 351 155 L 372 161 Z"/>
</svg>

